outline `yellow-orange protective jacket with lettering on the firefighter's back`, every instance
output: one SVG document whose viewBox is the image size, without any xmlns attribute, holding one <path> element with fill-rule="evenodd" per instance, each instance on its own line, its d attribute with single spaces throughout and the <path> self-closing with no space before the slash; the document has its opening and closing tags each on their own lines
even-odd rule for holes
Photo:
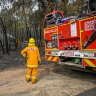
<svg viewBox="0 0 96 96">
<path fill-rule="evenodd" d="M 28 57 L 27 67 L 29 67 L 29 68 L 38 67 L 38 62 L 41 62 L 39 50 L 33 44 L 28 44 L 28 45 L 29 45 L 28 47 L 24 48 L 21 51 L 21 54 L 22 55 L 26 54 Z"/>
</svg>

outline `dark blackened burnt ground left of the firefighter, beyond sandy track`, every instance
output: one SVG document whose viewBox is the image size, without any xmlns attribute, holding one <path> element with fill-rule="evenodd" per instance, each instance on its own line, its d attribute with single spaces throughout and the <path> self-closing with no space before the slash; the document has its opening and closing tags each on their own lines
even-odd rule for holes
<svg viewBox="0 0 96 96">
<path fill-rule="evenodd" d="M 23 61 L 23 62 L 22 62 Z M 0 55 L 0 70 L 8 70 L 25 65 L 25 60 L 20 56 L 20 52 L 12 51 L 10 54 Z"/>
</svg>

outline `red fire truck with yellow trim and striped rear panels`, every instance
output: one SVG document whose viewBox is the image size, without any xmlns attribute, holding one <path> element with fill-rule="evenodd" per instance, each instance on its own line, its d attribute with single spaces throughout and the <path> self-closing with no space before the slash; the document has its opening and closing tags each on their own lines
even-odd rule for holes
<svg viewBox="0 0 96 96">
<path fill-rule="evenodd" d="M 78 17 L 64 17 L 64 13 L 58 10 L 45 16 L 44 40 L 47 61 L 95 70 L 96 6 L 92 5 L 96 5 L 96 0 L 87 0 L 85 3 L 90 4 L 90 11 L 84 13 L 83 10 L 82 15 Z"/>
</svg>

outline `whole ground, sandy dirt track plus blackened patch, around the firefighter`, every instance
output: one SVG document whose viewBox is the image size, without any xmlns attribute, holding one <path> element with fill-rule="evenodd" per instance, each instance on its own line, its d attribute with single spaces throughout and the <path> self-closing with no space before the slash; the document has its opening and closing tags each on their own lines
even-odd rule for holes
<svg viewBox="0 0 96 96">
<path fill-rule="evenodd" d="M 96 96 L 96 74 L 47 62 L 43 56 L 38 82 L 27 83 L 25 74 L 20 51 L 0 55 L 0 96 Z"/>
</svg>

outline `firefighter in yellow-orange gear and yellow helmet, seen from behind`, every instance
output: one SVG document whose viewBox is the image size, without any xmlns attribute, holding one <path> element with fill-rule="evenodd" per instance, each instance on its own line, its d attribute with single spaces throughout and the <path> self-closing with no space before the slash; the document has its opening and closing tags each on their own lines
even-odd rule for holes
<svg viewBox="0 0 96 96">
<path fill-rule="evenodd" d="M 29 39 L 28 46 L 21 51 L 23 57 L 27 58 L 26 81 L 32 76 L 32 84 L 37 82 L 38 63 L 41 62 L 38 48 L 35 46 L 34 38 Z"/>
</svg>

